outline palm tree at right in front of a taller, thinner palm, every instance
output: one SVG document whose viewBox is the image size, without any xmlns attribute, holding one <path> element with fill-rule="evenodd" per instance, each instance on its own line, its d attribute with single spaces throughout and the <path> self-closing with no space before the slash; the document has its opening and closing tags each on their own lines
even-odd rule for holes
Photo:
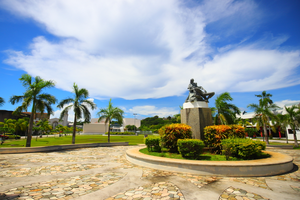
<svg viewBox="0 0 300 200">
<path fill-rule="evenodd" d="M 279 108 L 276 104 L 270 103 L 269 98 L 261 98 L 259 104 L 251 103 L 247 107 L 255 112 L 255 117 L 252 118 L 252 121 L 258 125 L 263 125 L 264 134 L 266 139 L 266 144 L 269 144 L 267 125 L 270 125 L 270 119 L 275 119 L 277 116 L 272 112 Z"/>
</svg>

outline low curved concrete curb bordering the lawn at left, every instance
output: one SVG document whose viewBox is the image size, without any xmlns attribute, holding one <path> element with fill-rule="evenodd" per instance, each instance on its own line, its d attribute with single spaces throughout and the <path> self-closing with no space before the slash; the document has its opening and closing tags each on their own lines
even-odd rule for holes
<svg viewBox="0 0 300 200">
<path fill-rule="evenodd" d="M 12 154 L 12 153 L 34 153 L 34 152 L 45 152 L 55 151 L 62 149 L 75 149 L 84 147 L 107 147 L 107 146 L 119 146 L 128 145 L 129 142 L 105 142 L 105 143 L 85 143 L 85 144 L 63 144 L 55 146 L 45 147 L 17 147 L 17 148 L 0 148 L 0 154 Z"/>
</svg>

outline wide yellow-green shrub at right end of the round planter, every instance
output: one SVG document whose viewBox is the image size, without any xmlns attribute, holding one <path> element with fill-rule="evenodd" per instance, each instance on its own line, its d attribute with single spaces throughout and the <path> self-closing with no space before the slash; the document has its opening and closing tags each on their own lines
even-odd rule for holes
<svg viewBox="0 0 300 200">
<path fill-rule="evenodd" d="M 231 154 L 233 157 L 242 159 L 252 159 L 261 155 L 261 151 L 266 149 L 266 143 L 260 140 L 252 140 L 248 138 L 229 138 L 223 139 L 222 153 Z M 230 151 L 230 153 L 226 152 Z M 226 156 L 226 159 L 227 156 Z"/>
</svg>

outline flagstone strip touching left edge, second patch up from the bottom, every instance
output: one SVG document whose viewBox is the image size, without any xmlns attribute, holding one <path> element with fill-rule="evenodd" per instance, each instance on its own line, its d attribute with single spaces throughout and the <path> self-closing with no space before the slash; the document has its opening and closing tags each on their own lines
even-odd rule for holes
<svg viewBox="0 0 300 200">
<path fill-rule="evenodd" d="M 21 168 L 18 170 L 12 169 L 12 170 L 0 171 L 0 178 L 58 175 L 58 174 L 75 172 L 75 171 L 94 169 L 102 166 L 104 165 L 65 164 L 65 165 L 48 165 L 48 166 L 41 166 L 41 167 L 28 167 L 28 168 Z"/>
</svg>

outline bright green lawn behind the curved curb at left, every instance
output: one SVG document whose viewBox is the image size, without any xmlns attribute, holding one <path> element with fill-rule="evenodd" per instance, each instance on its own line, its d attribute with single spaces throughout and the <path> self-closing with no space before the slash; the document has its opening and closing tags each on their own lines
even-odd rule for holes
<svg viewBox="0 0 300 200">
<path fill-rule="evenodd" d="M 110 142 L 129 142 L 129 145 L 143 144 L 143 135 L 138 136 L 110 136 Z M 76 135 L 75 144 L 80 143 L 102 143 L 107 142 L 107 136 L 102 135 Z M 48 137 L 48 138 L 35 138 L 31 140 L 31 147 L 42 147 L 42 146 L 52 146 L 61 144 L 71 144 L 72 135 L 63 137 Z M 11 146 L 13 145 L 13 146 Z M 14 146 L 16 145 L 16 146 Z M 24 146 L 21 146 L 24 145 Z M 22 140 L 6 140 L 5 143 L 0 145 L 2 147 L 25 147 L 26 139 Z"/>
</svg>

